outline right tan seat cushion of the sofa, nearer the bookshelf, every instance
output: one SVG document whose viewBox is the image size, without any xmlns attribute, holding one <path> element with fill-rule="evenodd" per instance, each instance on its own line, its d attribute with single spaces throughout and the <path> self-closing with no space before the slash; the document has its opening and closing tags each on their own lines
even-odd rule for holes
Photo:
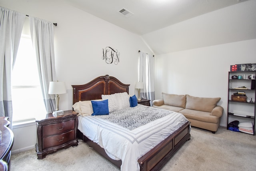
<svg viewBox="0 0 256 171">
<path fill-rule="evenodd" d="M 219 117 L 212 116 L 210 112 L 206 111 L 197 111 L 192 109 L 183 109 L 179 111 L 182 113 L 188 120 L 195 119 L 198 121 L 210 122 L 210 123 L 218 123 Z"/>
</svg>

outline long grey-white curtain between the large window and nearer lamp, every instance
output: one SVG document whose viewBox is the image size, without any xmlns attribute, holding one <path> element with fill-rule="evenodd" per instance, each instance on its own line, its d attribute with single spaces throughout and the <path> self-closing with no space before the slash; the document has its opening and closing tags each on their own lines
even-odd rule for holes
<svg viewBox="0 0 256 171">
<path fill-rule="evenodd" d="M 56 109 L 54 95 L 48 94 L 49 84 L 56 81 L 54 62 L 54 28 L 51 22 L 29 17 L 32 43 L 37 58 L 39 80 L 47 113 Z"/>
</svg>

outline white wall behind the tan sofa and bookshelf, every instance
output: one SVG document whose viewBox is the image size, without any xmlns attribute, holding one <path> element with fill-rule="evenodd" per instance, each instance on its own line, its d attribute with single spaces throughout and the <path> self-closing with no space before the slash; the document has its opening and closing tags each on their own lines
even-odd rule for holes
<svg viewBox="0 0 256 171">
<path fill-rule="evenodd" d="M 226 126 L 230 65 L 256 63 L 255 47 L 256 39 L 156 55 L 156 99 L 162 92 L 221 97 L 220 124 Z"/>
</svg>

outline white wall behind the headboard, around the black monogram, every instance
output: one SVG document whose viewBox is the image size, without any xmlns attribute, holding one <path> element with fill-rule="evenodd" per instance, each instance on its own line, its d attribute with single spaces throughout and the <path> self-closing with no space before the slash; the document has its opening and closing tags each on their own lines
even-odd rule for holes
<svg viewBox="0 0 256 171">
<path fill-rule="evenodd" d="M 0 6 L 58 24 L 54 28 L 56 75 L 59 81 L 66 82 L 67 88 L 67 93 L 60 95 L 60 109 L 72 109 L 71 85 L 85 84 L 106 74 L 130 84 L 131 95 L 137 93 L 134 85 L 138 81 L 138 50 L 152 53 L 140 36 L 62 0 L 0 0 Z M 102 48 L 106 46 L 120 52 L 118 65 L 106 64 L 102 60 Z M 34 135 L 30 136 L 31 142 L 35 142 Z M 18 143 L 19 138 L 14 139 L 13 151 L 25 148 L 24 144 Z"/>
</svg>

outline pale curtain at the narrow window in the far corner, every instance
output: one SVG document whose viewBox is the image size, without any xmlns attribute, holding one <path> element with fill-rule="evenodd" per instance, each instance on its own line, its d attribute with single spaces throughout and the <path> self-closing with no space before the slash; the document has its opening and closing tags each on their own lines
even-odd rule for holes
<svg viewBox="0 0 256 171">
<path fill-rule="evenodd" d="M 139 54 L 139 81 L 144 84 L 144 88 L 140 90 L 140 97 L 143 99 L 150 99 L 150 104 L 152 106 L 152 101 L 155 99 L 154 57 L 153 55 L 144 52 L 139 52 Z"/>
</svg>

